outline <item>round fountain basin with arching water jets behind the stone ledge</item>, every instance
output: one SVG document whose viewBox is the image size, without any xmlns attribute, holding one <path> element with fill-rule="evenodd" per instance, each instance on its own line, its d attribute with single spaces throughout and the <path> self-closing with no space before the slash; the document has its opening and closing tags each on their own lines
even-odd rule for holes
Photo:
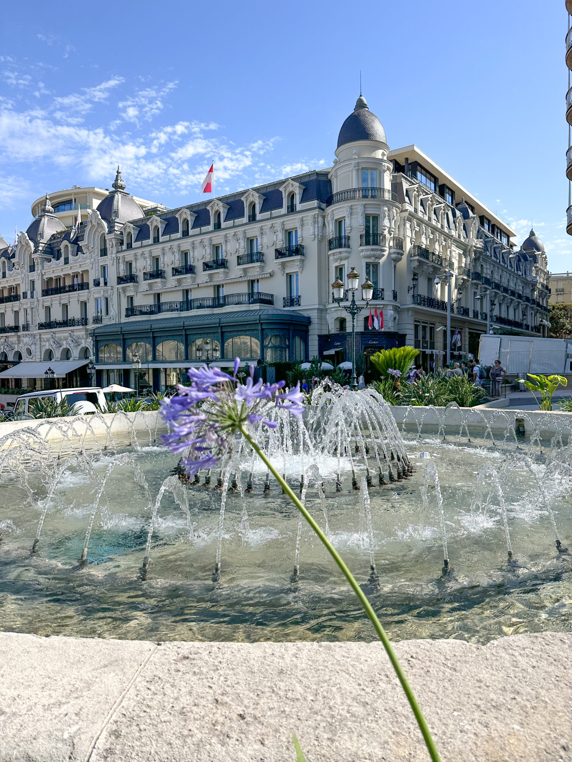
<svg viewBox="0 0 572 762">
<path fill-rule="evenodd" d="M 399 424 L 372 389 L 323 383 L 304 418 L 268 404 L 277 426 L 254 435 L 395 639 L 570 629 L 570 418 L 397 412 Z M 188 479 L 161 426 L 120 413 L 0 437 L 3 629 L 370 639 L 242 435 L 214 472 Z"/>
</svg>

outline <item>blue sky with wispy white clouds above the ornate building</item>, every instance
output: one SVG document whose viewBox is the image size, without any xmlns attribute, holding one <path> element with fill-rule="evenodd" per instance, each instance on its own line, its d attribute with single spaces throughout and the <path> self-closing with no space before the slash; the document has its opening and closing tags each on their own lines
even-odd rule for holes
<svg viewBox="0 0 572 762">
<path fill-rule="evenodd" d="M 359 92 L 390 148 L 416 143 L 551 271 L 566 235 L 564 0 L 4 4 L 0 233 L 46 191 L 111 187 L 175 207 L 330 166 Z"/>
</svg>

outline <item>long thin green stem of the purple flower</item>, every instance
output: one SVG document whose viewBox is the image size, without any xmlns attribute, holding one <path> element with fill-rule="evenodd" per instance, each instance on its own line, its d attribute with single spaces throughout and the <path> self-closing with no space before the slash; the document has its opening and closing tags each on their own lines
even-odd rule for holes
<svg viewBox="0 0 572 762">
<path fill-rule="evenodd" d="M 306 510 L 306 508 L 300 502 L 300 500 L 298 500 L 296 495 L 294 495 L 294 492 L 288 486 L 287 482 L 284 482 L 284 479 L 282 479 L 281 475 L 278 473 L 278 471 L 276 471 L 275 467 L 272 466 L 272 463 L 265 456 L 265 453 L 262 452 L 259 445 L 255 442 L 255 440 L 252 439 L 252 437 L 249 435 L 249 433 L 246 431 L 243 425 L 241 425 L 239 429 L 241 433 L 243 434 L 243 436 L 246 438 L 246 440 L 248 440 L 249 443 L 252 444 L 252 447 L 254 447 L 256 453 L 258 453 L 259 456 L 262 458 L 265 465 L 268 466 L 268 469 L 270 469 L 270 471 L 272 472 L 272 475 L 274 476 L 278 484 L 281 486 L 283 491 L 288 495 L 288 497 L 291 499 L 294 505 L 296 505 L 298 511 L 300 511 L 300 513 L 304 516 L 304 518 L 310 524 L 310 527 L 312 527 L 312 529 L 317 534 L 317 536 L 320 537 L 320 540 L 328 549 L 329 555 L 332 556 L 336 564 L 342 570 L 342 573 L 347 579 L 347 581 L 349 581 L 349 584 L 352 586 L 352 590 L 358 596 L 360 603 L 364 607 L 365 613 L 370 618 L 371 624 L 373 624 L 375 632 L 378 633 L 379 639 L 384 644 L 384 648 L 387 652 L 387 656 L 389 656 L 390 662 L 391 664 L 393 664 L 394 670 L 397 673 L 397 677 L 399 677 L 401 687 L 403 687 L 403 690 L 405 691 L 407 700 L 409 701 L 411 705 L 411 709 L 413 709 L 413 714 L 415 715 L 415 719 L 417 720 L 419 728 L 421 728 L 421 732 L 423 733 L 423 738 L 425 740 L 426 746 L 429 749 L 429 754 L 431 755 L 431 759 L 433 760 L 433 762 L 441 762 L 441 757 L 439 757 L 439 751 L 437 751 L 437 747 L 435 746 L 435 741 L 433 741 L 431 732 L 429 731 L 429 726 L 427 725 L 426 719 L 423 716 L 423 712 L 419 708 L 419 704 L 417 703 L 415 694 L 413 693 L 413 690 L 411 689 L 411 686 L 405 675 L 405 672 L 403 671 L 403 667 L 401 666 L 400 661 L 397 658 L 396 653 L 394 652 L 394 648 L 390 643 L 390 639 L 387 637 L 387 632 L 385 632 L 384 628 L 381 626 L 381 622 L 378 620 L 378 617 L 376 616 L 373 608 L 371 607 L 371 604 L 368 601 L 368 598 L 366 597 L 364 591 L 362 591 L 362 588 L 360 588 L 357 581 L 355 581 L 355 578 L 352 575 L 352 572 L 349 571 L 349 568 L 343 562 L 342 557 L 339 555 L 336 548 L 334 548 L 332 543 L 329 542 L 329 539 L 320 529 L 318 524 L 310 516 L 310 513 Z"/>
</svg>

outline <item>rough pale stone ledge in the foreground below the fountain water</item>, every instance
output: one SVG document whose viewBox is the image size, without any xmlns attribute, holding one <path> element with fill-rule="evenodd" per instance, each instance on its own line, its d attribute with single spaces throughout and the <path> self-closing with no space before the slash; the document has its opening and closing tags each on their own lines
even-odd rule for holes
<svg viewBox="0 0 572 762">
<path fill-rule="evenodd" d="M 572 635 L 395 645 L 443 762 L 572 760 Z M 0 633 L 2 762 L 427 762 L 381 643 Z"/>
</svg>

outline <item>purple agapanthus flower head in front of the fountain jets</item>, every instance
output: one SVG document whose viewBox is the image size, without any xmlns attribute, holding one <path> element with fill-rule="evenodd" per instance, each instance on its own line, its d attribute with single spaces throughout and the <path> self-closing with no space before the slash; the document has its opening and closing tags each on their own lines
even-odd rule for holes
<svg viewBox="0 0 572 762">
<path fill-rule="evenodd" d="M 254 382 L 254 366 L 246 383 L 240 383 L 236 378 L 239 367 L 236 357 L 232 376 L 217 367 L 191 368 L 191 386 L 178 385 L 177 394 L 162 402 L 161 415 L 170 429 L 162 440 L 173 453 L 185 453 L 181 465 L 189 475 L 215 466 L 230 437 L 247 424 L 276 428 L 278 421 L 271 418 L 273 408 L 297 416 L 304 411 L 300 383 L 281 394 L 284 381 Z"/>
</svg>

